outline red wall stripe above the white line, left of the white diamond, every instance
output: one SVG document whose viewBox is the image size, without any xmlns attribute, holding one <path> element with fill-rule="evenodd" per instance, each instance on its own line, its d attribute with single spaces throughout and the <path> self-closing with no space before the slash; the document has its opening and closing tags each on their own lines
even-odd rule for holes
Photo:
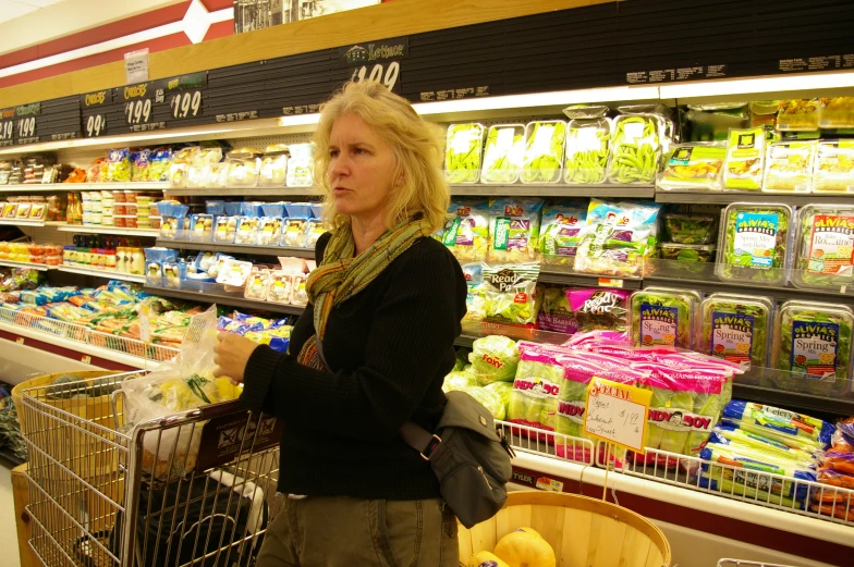
<svg viewBox="0 0 854 567">
<path fill-rule="evenodd" d="M 126 17 L 111 24 L 94 27 L 86 32 L 71 34 L 59 39 L 46 41 L 39 46 L 5 53 L 0 56 L 0 69 L 20 65 L 21 63 L 35 61 L 36 59 L 73 51 L 74 49 L 109 41 L 110 39 L 117 39 L 138 32 L 145 32 L 152 27 L 180 22 L 183 20 L 184 14 L 186 14 L 188 5 L 190 0 L 181 2 L 180 4 L 152 10 L 133 17 Z M 130 51 L 130 49 L 127 49 L 127 51 Z"/>
</svg>

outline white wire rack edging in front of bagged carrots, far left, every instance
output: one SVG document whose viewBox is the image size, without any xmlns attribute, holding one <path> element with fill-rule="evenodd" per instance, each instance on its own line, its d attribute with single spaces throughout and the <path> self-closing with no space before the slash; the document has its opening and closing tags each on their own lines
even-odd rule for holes
<svg viewBox="0 0 854 567">
<path fill-rule="evenodd" d="M 155 362 L 169 360 L 179 353 L 178 348 L 170 346 L 156 345 L 136 338 L 102 333 L 76 323 L 59 321 L 35 313 L 15 311 L 5 307 L 0 307 L 0 322 Z"/>
</svg>

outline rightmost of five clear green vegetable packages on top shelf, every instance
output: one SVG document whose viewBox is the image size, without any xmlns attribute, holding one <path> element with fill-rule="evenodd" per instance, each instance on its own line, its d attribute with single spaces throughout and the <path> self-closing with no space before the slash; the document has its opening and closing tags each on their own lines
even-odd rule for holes
<svg viewBox="0 0 854 567">
<path fill-rule="evenodd" d="M 611 183 L 642 183 L 656 181 L 661 160 L 661 119 L 652 114 L 622 115 L 614 120 Z"/>
</svg>

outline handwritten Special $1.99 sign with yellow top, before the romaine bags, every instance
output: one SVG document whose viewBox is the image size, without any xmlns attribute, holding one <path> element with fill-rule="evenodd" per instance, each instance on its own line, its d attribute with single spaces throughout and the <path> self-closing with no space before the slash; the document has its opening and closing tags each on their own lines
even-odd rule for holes
<svg viewBox="0 0 854 567">
<path fill-rule="evenodd" d="M 587 386 L 584 431 L 643 455 L 651 398 L 648 390 L 594 378 Z"/>
</svg>

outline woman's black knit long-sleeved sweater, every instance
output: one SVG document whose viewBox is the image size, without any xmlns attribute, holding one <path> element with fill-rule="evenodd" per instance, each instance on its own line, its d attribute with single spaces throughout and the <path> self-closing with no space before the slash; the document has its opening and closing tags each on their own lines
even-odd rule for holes
<svg viewBox="0 0 854 567">
<path fill-rule="evenodd" d="M 317 243 L 319 260 L 329 242 Z M 358 498 L 439 496 L 429 464 L 400 436 L 407 420 L 432 430 L 441 385 L 454 365 L 465 316 L 460 264 L 423 238 L 329 317 L 324 356 L 334 370 L 296 361 L 314 334 L 309 305 L 291 333 L 290 355 L 267 346 L 246 366 L 241 399 L 284 421 L 279 491 Z"/>
</svg>

